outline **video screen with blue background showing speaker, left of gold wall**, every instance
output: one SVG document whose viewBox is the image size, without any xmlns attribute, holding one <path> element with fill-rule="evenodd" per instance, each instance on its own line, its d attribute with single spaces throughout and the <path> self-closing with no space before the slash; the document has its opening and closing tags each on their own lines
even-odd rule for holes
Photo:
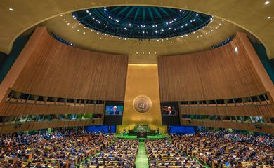
<svg viewBox="0 0 274 168">
<path fill-rule="evenodd" d="M 107 101 L 104 125 L 122 125 L 124 102 Z"/>
</svg>

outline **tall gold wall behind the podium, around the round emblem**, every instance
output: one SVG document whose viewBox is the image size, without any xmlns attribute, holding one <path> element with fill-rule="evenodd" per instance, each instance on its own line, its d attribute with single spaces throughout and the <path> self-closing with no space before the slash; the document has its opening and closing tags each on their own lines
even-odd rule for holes
<svg viewBox="0 0 274 168">
<path fill-rule="evenodd" d="M 134 99 L 140 95 L 151 99 L 151 108 L 145 113 L 136 111 L 133 106 Z M 123 123 L 117 131 L 122 132 L 124 128 L 131 130 L 135 125 L 150 125 L 152 130 L 157 130 L 159 127 L 161 132 L 167 132 L 167 127 L 162 126 L 156 64 L 129 64 L 128 66 Z"/>
</svg>

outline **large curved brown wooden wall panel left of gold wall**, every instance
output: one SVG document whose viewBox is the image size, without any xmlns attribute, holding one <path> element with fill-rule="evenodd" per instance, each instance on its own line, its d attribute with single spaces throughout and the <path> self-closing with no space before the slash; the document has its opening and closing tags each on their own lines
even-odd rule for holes
<svg viewBox="0 0 274 168">
<path fill-rule="evenodd" d="M 32 36 L 29 43 L 39 38 L 39 44 L 24 53 L 30 56 L 11 86 L 13 90 L 49 97 L 124 101 L 127 56 L 60 43 L 46 27 L 37 28 Z"/>
</svg>

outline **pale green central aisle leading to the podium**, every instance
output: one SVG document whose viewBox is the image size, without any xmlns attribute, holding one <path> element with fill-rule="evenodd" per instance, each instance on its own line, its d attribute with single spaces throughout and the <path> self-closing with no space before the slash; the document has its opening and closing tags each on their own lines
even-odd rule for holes
<svg viewBox="0 0 274 168">
<path fill-rule="evenodd" d="M 139 142 L 135 164 L 137 168 L 148 168 L 148 155 L 145 152 L 145 142 Z"/>
</svg>

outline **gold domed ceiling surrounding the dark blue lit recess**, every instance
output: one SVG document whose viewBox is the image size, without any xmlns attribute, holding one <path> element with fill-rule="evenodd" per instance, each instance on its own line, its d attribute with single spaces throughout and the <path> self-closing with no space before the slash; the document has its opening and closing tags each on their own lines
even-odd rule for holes
<svg viewBox="0 0 274 168">
<path fill-rule="evenodd" d="M 0 6 L 0 52 L 6 54 L 11 52 L 13 42 L 20 34 L 23 35 L 26 31 L 31 33 L 37 26 L 46 26 L 49 32 L 73 43 L 76 47 L 129 55 L 129 60 L 135 63 L 156 64 L 157 55 L 181 55 L 209 50 L 212 45 L 217 45 L 235 35 L 236 31 L 247 31 L 265 45 L 268 58 L 273 59 L 274 3 L 266 2 L 255 0 L 243 0 L 237 1 L 237 3 L 217 0 L 204 2 L 189 0 L 44 0 L 20 3 L 19 1 L 2 0 Z M 183 37 L 139 41 L 138 38 L 115 38 L 116 36 L 87 29 L 72 17 L 74 11 L 104 6 L 107 8 L 155 6 L 156 8 L 193 10 L 214 15 L 214 20 L 202 29 Z M 129 9 L 127 13 L 129 13 Z M 131 15 L 133 15 L 132 13 L 133 11 Z M 140 10 L 138 13 L 141 15 Z M 145 10 L 145 15 L 150 15 L 149 10 Z M 157 13 L 154 15 L 157 17 Z M 162 17 L 167 16 L 162 13 Z"/>
</svg>

